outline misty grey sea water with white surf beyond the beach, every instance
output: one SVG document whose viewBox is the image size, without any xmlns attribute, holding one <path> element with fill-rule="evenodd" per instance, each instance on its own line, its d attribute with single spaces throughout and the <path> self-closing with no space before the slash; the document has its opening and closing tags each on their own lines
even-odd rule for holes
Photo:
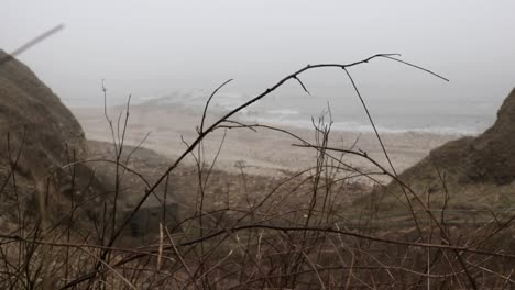
<svg viewBox="0 0 515 290">
<path fill-rule="evenodd" d="M 178 90 L 156 98 L 136 100 L 151 105 L 171 105 L 194 113 L 204 110 L 208 91 Z M 219 92 L 209 112 L 221 114 L 250 100 L 252 96 Z M 381 100 L 366 101 L 368 109 L 380 132 L 430 132 L 474 135 L 495 121 L 496 108 L 482 101 L 452 100 Z M 249 123 L 272 123 L 297 127 L 313 127 L 324 116 L 332 121 L 333 130 L 370 132 L 372 126 L 358 99 L 317 98 L 298 93 L 271 94 L 238 113 Z"/>
</svg>

